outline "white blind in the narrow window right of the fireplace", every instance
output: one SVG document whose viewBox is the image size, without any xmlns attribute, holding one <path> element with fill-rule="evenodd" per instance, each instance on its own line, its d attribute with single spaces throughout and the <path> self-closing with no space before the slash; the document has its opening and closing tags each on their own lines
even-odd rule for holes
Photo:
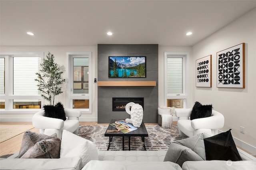
<svg viewBox="0 0 256 170">
<path fill-rule="evenodd" d="M 167 58 L 167 93 L 181 94 L 183 58 Z"/>
</svg>

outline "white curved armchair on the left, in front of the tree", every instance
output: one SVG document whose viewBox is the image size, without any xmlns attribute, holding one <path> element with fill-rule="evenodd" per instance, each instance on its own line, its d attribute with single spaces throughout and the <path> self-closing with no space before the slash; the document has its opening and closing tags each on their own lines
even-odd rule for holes
<svg viewBox="0 0 256 170">
<path fill-rule="evenodd" d="M 74 134 L 78 134 L 79 117 L 81 116 L 80 110 L 64 109 L 67 120 L 49 118 L 44 116 L 44 110 L 35 113 L 32 117 L 32 124 L 38 128 L 40 133 L 46 135 L 57 134 L 61 139 L 62 131 L 67 130 Z"/>
</svg>

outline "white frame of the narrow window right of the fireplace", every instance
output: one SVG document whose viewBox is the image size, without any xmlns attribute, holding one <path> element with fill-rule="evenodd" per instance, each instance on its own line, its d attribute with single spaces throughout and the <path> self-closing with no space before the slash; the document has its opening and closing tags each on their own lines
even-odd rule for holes
<svg viewBox="0 0 256 170">
<path fill-rule="evenodd" d="M 182 93 L 167 93 L 167 58 L 183 58 L 182 61 Z M 183 108 L 187 106 L 188 98 L 188 52 L 164 52 L 164 105 L 167 106 L 168 99 L 183 99 Z"/>
</svg>

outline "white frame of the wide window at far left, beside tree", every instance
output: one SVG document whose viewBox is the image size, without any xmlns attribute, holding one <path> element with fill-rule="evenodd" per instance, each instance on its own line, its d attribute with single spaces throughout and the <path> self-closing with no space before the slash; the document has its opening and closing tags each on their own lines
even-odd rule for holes
<svg viewBox="0 0 256 170">
<path fill-rule="evenodd" d="M 34 114 L 35 112 L 38 112 L 38 110 L 41 109 L 14 109 L 13 108 L 13 100 L 15 99 L 37 99 L 41 100 L 41 108 L 44 105 L 44 99 L 40 94 L 38 95 L 24 95 L 24 94 L 13 94 L 13 57 L 17 56 L 40 56 L 41 60 L 44 58 L 43 52 L 13 52 L 13 53 L 1 53 L 0 56 L 2 58 L 5 58 L 5 94 L 0 94 L 0 98 L 4 99 L 5 108 L 0 109 L 0 114 L 9 114 L 9 113 L 15 113 L 15 114 Z"/>
</svg>

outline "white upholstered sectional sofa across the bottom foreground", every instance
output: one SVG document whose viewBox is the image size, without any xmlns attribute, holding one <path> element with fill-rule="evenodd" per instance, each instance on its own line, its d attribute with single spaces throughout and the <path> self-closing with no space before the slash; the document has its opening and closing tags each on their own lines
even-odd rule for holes
<svg viewBox="0 0 256 170">
<path fill-rule="evenodd" d="M 59 159 L 21 159 L 17 158 L 18 153 L 0 160 L 1 170 L 123 170 L 124 167 L 132 170 L 255 170 L 256 158 L 240 150 L 238 152 L 243 161 L 228 162 L 221 160 L 211 161 L 186 161 L 182 168 L 172 162 L 163 162 L 166 150 L 158 151 L 98 151 L 98 160 L 91 160 L 82 167 L 82 160 L 79 156 Z M 148 166 L 148 167 L 147 167 Z M 123 169 L 122 169 L 123 168 Z M 252 169 L 254 168 L 254 169 Z"/>
</svg>

